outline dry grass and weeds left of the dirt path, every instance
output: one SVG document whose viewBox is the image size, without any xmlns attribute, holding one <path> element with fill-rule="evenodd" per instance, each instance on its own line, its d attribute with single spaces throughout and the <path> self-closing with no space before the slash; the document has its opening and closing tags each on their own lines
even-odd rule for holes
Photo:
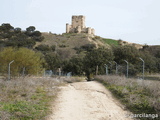
<svg viewBox="0 0 160 120">
<path fill-rule="evenodd" d="M 0 119 L 46 119 L 60 84 L 53 78 L 0 80 Z"/>
</svg>

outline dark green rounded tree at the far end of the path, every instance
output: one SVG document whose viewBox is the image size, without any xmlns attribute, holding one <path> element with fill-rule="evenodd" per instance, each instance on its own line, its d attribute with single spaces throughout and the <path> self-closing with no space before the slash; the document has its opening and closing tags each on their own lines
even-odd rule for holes
<svg viewBox="0 0 160 120">
<path fill-rule="evenodd" d="M 114 58 L 111 49 L 98 48 L 87 52 L 84 57 L 84 71 L 88 80 L 91 80 L 91 75 L 95 74 L 96 67 L 99 67 L 99 74 L 104 72 L 104 65 Z"/>
</svg>

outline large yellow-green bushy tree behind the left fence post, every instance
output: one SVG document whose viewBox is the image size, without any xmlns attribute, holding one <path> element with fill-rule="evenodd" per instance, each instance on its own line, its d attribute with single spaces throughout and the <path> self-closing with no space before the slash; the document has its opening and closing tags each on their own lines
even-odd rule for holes
<svg viewBox="0 0 160 120">
<path fill-rule="evenodd" d="M 0 71 L 4 74 L 8 71 L 8 63 L 14 60 L 12 63 L 11 72 L 12 75 L 19 75 L 25 68 L 25 74 L 36 74 L 42 70 L 42 65 L 45 63 L 42 55 L 36 53 L 33 50 L 27 48 L 4 48 L 0 52 Z"/>
</svg>

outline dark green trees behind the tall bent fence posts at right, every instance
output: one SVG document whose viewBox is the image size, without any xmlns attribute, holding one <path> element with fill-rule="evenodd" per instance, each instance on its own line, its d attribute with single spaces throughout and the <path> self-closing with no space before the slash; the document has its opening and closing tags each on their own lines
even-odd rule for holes
<svg viewBox="0 0 160 120">
<path fill-rule="evenodd" d="M 113 48 L 115 61 L 118 64 L 125 65 L 124 60 L 129 62 L 129 74 L 135 76 L 137 73 L 142 72 L 142 62 L 140 57 L 145 61 L 145 71 L 146 72 L 156 72 L 158 65 L 157 59 L 154 57 L 154 50 L 148 46 L 144 47 L 142 50 L 138 50 L 133 46 L 118 46 Z M 151 54 L 152 53 L 152 54 Z M 125 69 L 122 70 L 125 74 Z"/>
</svg>

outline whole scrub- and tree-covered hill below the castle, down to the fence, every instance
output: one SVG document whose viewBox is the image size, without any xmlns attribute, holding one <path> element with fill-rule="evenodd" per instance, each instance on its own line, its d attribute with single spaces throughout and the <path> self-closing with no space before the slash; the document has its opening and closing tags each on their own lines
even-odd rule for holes
<svg viewBox="0 0 160 120">
<path fill-rule="evenodd" d="M 22 47 L 26 49 L 20 49 Z M 72 72 L 73 75 L 86 75 L 91 79 L 95 74 L 105 74 L 104 65 L 108 66 L 109 74 L 115 74 L 117 64 L 117 74 L 126 75 L 124 62 L 126 60 L 129 63 L 129 77 L 135 77 L 142 75 L 142 61 L 139 58 L 145 61 L 145 74 L 159 72 L 160 49 L 158 48 L 158 46 L 142 46 L 85 33 L 57 35 L 41 33 L 34 26 L 21 30 L 10 24 L 2 24 L 0 26 L 0 57 L 1 61 L 6 62 L 0 63 L 0 72 L 5 76 L 7 64 L 15 59 L 12 64 L 16 66 L 16 71 L 12 74 L 14 76 L 29 75 L 32 74 L 29 71 L 33 70 L 33 74 L 39 75 L 45 69 L 54 72 L 60 70 L 64 74 Z M 29 49 L 28 52 L 27 49 Z M 10 50 L 13 51 L 10 54 L 5 52 Z M 34 54 L 38 56 L 37 58 L 28 57 L 33 62 L 28 63 L 29 60 L 17 57 L 14 54 L 15 51 L 19 51 L 17 53 L 21 56 L 34 56 Z"/>
</svg>

